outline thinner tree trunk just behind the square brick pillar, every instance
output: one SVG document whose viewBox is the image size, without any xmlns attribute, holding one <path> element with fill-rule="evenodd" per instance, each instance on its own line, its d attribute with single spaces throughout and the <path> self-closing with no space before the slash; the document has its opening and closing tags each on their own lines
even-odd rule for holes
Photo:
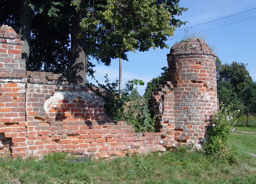
<svg viewBox="0 0 256 184">
<path fill-rule="evenodd" d="M 33 13 L 33 10 L 28 6 L 27 0 L 21 0 L 18 34 L 20 36 L 20 39 L 23 41 L 23 45 L 21 48 L 21 58 L 25 59 L 26 61 L 26 69 L 28 68 L 32 13 Z"/>
</svg>

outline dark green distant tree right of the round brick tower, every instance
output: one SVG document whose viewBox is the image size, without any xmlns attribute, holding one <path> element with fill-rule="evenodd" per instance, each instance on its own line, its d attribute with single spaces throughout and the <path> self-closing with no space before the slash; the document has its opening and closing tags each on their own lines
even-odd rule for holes
<svg viewBox="0 0 256 184">
<path fill-rule="evenodd" d="M 249 111 L 256 113 L 256 85 L 245 66 L 237 62 L 222 65 L 217 58 L 217 95 L 220 102 L 232 103 L 233 110 L 240 109 L 245 113 L 249 106 Z"/>
</svg>

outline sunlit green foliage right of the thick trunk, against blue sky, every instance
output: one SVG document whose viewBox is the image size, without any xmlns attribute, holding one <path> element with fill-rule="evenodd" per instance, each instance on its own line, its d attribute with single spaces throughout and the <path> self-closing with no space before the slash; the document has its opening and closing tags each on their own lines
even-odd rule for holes
<svg viewBox="0 0 256 184">
<path fill-rule="evenodd" d="M 128 51 L 167 48 L 164 42 L 167 36 L 172 36 L 176 27 L 185 24 L 174 18 L 187 10 L 180 8 L 178 3 L 179 0 L 72 0 L 71 5 L 77 11 L 85 12 L 80 22 L 80 36 L 86 43 L 85 48 L 82 47 L 85 58 L 90 56 L 109 65 L 113 58 L 127 60 Z M 80 56 L 77 54 L 75 57 Z M 81 63 L 83 61 L 79 62 L 71 63 L 70 75 L 75 76 L 73 78 L 80 78 L 86 70 Z"/>
</svg>

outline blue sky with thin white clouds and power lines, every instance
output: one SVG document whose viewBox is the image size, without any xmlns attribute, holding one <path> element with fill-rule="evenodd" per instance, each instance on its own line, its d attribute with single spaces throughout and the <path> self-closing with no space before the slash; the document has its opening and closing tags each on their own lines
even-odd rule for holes
<svg viewBox="0 0 256 184">
<path fill-rule="evenodd" d="M 242 11 L 256 8 L 255 0 L 180 0 L 180 6 L 188 7 L 188 11 L 183 12 L 178 18 L 188 21 L 186 26 L 194 26 L 204 22 L 223 18 Z M 187 34 L 209 30 L 215 27 L 230 24 L 239 20 L 256 16 L 256 9 L 236 16 L 224 18 L 212 23 L 196 26 L 188 29 Z M 229 26 L 221 27 L 195 36 L 203 38 L 214 52 L 219 56 L 222 63 L 232 63 L 232 61 L 248 63 L 246 66 L 253 80 L 256 81 L 256 17 L 238 22 Z M 178 28 L 180 29 L 180 28 Z M 174 33 L 172 40 L 166 43 L 171 48 L 184 36 L 185 31 L 180 30 Z M 150 49 L 148 52 L 129 52 L 129 61 L 122 62 L 122 83 L 126 80 L 136 78 L 145 82 L 144 86 L 138 86 L 140 94 L 144 94 L 147 82 L 161 73 L 161 68 L 167 66 L 166 54 L 168 49 Z M 96 63 L 92 61 L 93 63 Z M 114 81 L 119 76 L 119 59 L 112 60 L 111 66 L 96 65 L 96 79 L 104 83 L 104 75 L 107 73 L 110 81 Z M 90 80 L 92 81 L 92 80 Z M 93 82 L 93 81 L 92 81 Z"/>
</svg>

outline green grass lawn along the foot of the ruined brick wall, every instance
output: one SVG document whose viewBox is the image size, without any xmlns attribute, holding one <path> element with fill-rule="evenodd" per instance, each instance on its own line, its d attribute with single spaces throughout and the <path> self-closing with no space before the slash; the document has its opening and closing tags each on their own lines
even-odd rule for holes
<svg viewBox="0 0 256 184">
<path fill-rule="evenodd" d="M 72 157 L 65 153 L 46 155 L 40 161 L 0 157 L 0 184 L 11 179 L 22 184 L 256 184 L 256 158 L 245 153 L 255 153 L 255 143 L 256 136 L 231 134 L 231 152 L 225 158 L 187 148 L 79 163 L 70 163 Z"/>
</svg>

